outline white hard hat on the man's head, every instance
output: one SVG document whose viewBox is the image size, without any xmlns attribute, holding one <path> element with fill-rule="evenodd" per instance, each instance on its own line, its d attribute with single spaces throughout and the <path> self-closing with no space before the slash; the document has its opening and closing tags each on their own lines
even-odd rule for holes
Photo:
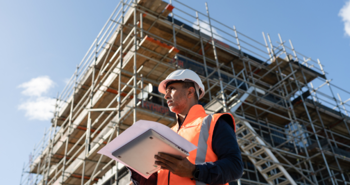
<svg viewBox="0 0 350 185">
<path fill-rule="evenodd" d="M 183 81 L 193 81 L 195 82 L 196 92 L 198 95 L 198 100 L 204 97 L 204 85 L 201 78 L 194 71 L 190 69 L 179 69 L 170 73 L 163 81 L 160 82 L 158 90 L 160 93 L 165 95 L 166 83 L 174 80 Z M 201 89 L 201 94 L 199 94 L 199 89 Z"/>
</svg>

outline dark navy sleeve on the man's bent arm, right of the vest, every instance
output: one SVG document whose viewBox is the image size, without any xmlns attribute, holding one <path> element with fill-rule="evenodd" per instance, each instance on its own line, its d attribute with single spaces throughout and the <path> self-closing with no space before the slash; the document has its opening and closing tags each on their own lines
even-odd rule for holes
<svg viewBox="0 0 350 185">
<path fill-rule="evenodd" d="M 214 127 L 212 148 L 218 156 L 215 162 L 196 164 L 198 180 L 207 184 L 225 184 L 243 174 L 241 151 L 233 128 L 220 117 Z"/>
</svg>

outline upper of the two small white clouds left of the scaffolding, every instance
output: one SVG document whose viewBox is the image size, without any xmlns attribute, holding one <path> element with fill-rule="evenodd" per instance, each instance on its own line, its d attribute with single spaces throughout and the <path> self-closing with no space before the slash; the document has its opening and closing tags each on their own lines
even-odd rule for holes
<svg viewBox="0 0 350 185">
<path fill-rule="evenodd" d="M 39 76 L 36 78 L 32 78 L 28 82 L 24 82 L 18 87 L 24 88 L 22 94 L 25 96 L 35 96 L 40 97 L 43 93 L 47 93 L 47 91 L 54 86 L 54 82 L 50 79 L 49 76 Z"/>
</svg>

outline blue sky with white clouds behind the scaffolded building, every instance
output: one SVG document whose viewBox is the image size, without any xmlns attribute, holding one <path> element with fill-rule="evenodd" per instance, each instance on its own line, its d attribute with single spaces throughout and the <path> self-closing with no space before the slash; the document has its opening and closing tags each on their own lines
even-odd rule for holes
<svg viewBox="0 0 350 185">
<path fill-rule="evenodd" d="M 205 13 L 205 1 L 181 2 Z M 296 50 L 320 59 L 334 84 L 350 91 L 350 8 L 344 12 L 347 35 L 339 16 L 348 1 L 207 2 L 212 18 L 235 25 L 259 42 L 264 42 L 261 32 L 269 33 L 274 43 L 278 33 L 286 41 L 291 39 Z M 19 183 L 23 163 L 50 126 L 47 102 L 50 105 L 62 90 L 117 4 L 0 1 L 0 174 L 4 184 Z M 34 107 L 25 109 L 25 105 Z"/>
</svg>

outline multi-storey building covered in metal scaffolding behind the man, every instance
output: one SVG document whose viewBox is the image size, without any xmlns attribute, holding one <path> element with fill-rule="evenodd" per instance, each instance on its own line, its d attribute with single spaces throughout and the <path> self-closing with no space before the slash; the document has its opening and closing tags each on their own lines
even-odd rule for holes
<svg viewBox="0 0 350 185">
<path fill-rule="evenodd" d="M 177 69 L 201 77 L 207 114 L 235 118 L 244 173 L 230 184 L 349 184 L 350 99 L 340 95 L 350 93 L 278 36 L 255 41 L 207 5 L 121 0 L 57 95 L 20 184 L 130 184 L 124 165 L 97 152 L 137 120 L 177 123 L 157 90 Z"/>
</svg>

